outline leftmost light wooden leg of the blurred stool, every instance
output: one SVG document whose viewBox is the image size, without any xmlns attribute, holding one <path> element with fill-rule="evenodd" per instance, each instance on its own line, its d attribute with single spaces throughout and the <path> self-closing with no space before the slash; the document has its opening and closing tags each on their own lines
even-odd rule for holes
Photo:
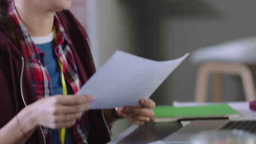
<svg viewBox="0 0 256 144">
<path fill-rule="evenodd" d="M 196 102 L 206 102 L 207 92 L 208 92 L 208 82 L 210 76 L 209 65 L 202 64 L 197 72 L 196 76 L 196 86 L 195 86 L 195 101 Z"/>
</svg>

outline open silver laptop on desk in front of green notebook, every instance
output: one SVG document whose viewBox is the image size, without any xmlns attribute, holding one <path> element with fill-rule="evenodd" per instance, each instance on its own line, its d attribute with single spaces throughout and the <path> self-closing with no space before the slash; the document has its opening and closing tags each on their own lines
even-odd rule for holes
<svg viewBox="0 0 256 144">
<path fill-rule="evenodd" d="M 162 141 L 170 144 L 187 143 L 190 136 L 201 131 L 230 129 L 241 129 L 256 134 L 256 120 L 232 121 L 228 119 L 220 119 L 191 121 L 191 123 L 165 137 Z"/>
</svg>

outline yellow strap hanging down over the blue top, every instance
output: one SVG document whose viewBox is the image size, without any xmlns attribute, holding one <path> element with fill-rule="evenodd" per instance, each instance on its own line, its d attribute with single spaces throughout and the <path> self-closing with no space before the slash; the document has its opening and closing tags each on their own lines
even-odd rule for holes
<svg viewBox="0 0 256 144">
<path fill-rule="evenodd" d="M 55 42 L 57 44 L 57 33 L 56 33 L 56 29 L 54 27 L 54 35 L 55 35 Z M 60 69 L 61 69 L 61 83 L 62 83 L 62 88 L 63 88 L 63 95 L 67 95 L 67 85 L 66 85 L 66 81 L 65 81 L 65 77 L 63 74 L 63 65 L 60 61 L 60 59 L 58 60 L 59 65 L 60 65 Z M 65 128 L 61 128 L 59 129 L 59 134 L 60 134 L 60 143 L 64 144 L 65 142 L 65 133 L 66 133 L 66 129 Z"/>
</svg>

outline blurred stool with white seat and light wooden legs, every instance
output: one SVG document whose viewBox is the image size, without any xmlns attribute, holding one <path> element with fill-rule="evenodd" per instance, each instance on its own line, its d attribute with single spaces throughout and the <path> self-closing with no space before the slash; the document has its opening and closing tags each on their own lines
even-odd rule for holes
<svg viewBox="0 0 256 144">
<path fill-rule="evenodd" d="M 200 63 L 197 71 L 195 101 L 205 102 L 208 94 L 210 74 L 214 76 L 213 101 L 223 101 L 223 75 L 241 77 L 245 99 L 256 99 L 253 71 L 256 65 L 256 38 L 230 41 L 192 53 L 194 63 Z"/>
</svg>

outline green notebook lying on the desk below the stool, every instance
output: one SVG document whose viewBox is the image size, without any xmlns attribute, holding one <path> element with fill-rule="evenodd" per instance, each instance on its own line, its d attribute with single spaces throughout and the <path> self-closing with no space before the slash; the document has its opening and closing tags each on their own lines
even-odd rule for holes
<svg viewBox="0 0 256 144">
<path fill-rule="evenodd" d="M 228 104 L 213 104 L 204 106 L 156 106 L 155 122 L 173 122 L 179 119 L 239 117 L 239 113 Z"/>
</svg>

